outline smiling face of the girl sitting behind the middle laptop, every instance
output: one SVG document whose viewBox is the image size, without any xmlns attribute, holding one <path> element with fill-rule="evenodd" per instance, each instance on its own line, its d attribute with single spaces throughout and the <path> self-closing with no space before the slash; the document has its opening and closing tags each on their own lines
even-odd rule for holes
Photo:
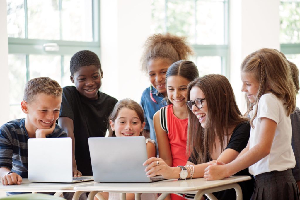
<svg viewBox="0 0 300 200">
<path fill-rule="evenodd" d="M 117 137 L 140 136 L 145 127 L 137 113 L 129 108 L 119 110 L 115 121 L 110 120 L 110 127 Z"/>
</svg>

